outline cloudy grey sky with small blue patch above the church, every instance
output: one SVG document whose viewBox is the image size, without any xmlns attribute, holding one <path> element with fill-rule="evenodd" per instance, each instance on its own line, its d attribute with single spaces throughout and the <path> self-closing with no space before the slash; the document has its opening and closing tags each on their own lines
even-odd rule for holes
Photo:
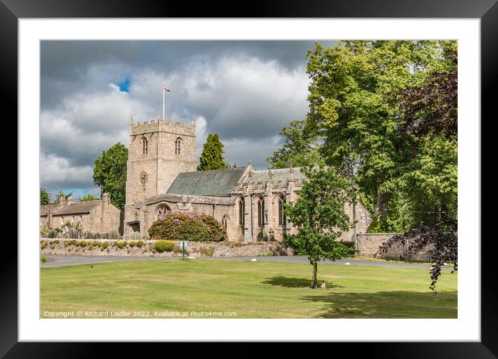
<svg viewBox="0 0 498 359">
<path fill-rule="evenodd" d="M 332 45 L 332 41 L 321 41 Z M 93 161 L 128 145 L 135 122 L 197 118 L 198 157 L 220 134 L 225 161 L 267 168 L 278 131 L 307 112 L 313 41 L 42 41 L 40 182 L 49 191 L 100 194 Z"/>
</svg>

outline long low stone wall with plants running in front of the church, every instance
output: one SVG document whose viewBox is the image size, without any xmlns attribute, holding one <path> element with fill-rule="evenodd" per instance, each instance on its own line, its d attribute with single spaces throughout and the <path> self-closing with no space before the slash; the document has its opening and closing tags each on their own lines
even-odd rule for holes
<svg viewBox="0 0 498 359">
<path fill-rule="evenodd" d="M 45 245 L 43 244 L 45 242 Z M 82 243 L 83 242 L 83 243 Z M 86 245 L 83 246 L 84 242 Z M 134 246 L 130 246 L 133 244 Z M 180 247 L 180 241 L 173 241 L 175 246 Z M 124 244 L 125 243 L 125 244 Z M 138 247 L 138 241 L 124 241 L 116 239 L 58 239 L 40 238 L 42 255 L 113 255 L 122 257 L 182 257 L 182 253 L 176 251 L 153 253 L 152 248 L 156 241 L 146 240 Z M 206 257 L 206 250 L 214 248 L 212 257 L 258 257 L 262 255 L 292 255 L 291 248 L 284 248 L 279 242 L 196 242 L 187 241 L 186 251 L 189 256 Z M 124 245 L 123 245 L 124 244 Z M 119 248 L 119 245 L 122 248 Z M 177 248 L 178 249 L 178 248 Z M 201 251 L 203 253 L 201 253 Z M 187 255 L 186 255 L 187 256 Z"/>
</svg>

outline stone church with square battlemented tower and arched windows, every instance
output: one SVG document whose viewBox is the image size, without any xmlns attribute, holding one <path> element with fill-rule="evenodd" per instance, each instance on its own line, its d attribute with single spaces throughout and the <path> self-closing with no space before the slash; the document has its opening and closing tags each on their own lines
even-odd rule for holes
<svg viewBox="0 0 498 359">
<path fill-rule="evenodd" d="M 297 231 L 282 211 L 298 198 L 305 176 L 300 168 L 246 167 L 197 171 L 195 120 L 129 122 L 124 238 L 147 239 L 147 230 L 165 212 L 214 216 L 229 241 L 282 241 Z M 353 218 L 353 208 L 344 208 Z M 357 233 L 365 233 L 369 213 L 355 208 Z M 353 230 L 342 239 L 351 241 Z"/>
</svg>

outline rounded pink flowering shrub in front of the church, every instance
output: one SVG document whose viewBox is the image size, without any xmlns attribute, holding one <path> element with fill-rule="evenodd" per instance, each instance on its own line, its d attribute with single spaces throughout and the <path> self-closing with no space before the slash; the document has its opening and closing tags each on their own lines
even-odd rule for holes
<svg viewBox="0 0 498 359">
<path fill-rule="evenodd" d="M 151 239 L 172 241 L 223 241 L 223 225 L 213 216 L 193 212 L 168 212 L 149 228 Z"/>
</svg>

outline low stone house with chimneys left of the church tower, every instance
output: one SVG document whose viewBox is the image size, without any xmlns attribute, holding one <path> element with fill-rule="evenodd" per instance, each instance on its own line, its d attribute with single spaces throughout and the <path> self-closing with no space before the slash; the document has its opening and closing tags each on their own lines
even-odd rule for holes
<svg viewBox="0 0 498 359">
<path fill-rule="evenodd" d="M 57 205 L 51 205 L 50 228 L 61 227 L 64 223 L 79 224 L 83 232 L 109 233 L 120 231 L 121 211 L 111 203 L 109 193 L 102 195 L 102 200 L 74 202 L 69 198 L 61 198 Z M 48 228 L 49 206 L 40 206 L 40 230 Z"/>
</svg>

